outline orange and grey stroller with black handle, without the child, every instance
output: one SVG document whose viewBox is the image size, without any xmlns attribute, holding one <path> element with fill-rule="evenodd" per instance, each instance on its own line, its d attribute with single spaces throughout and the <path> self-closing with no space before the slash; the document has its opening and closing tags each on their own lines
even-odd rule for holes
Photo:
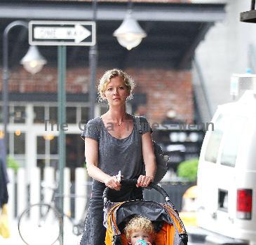
<svg viewBox="0 0 256 245">
<path fill-rule="evenodd" d="M 123 180 L 122 185 L 135 185 L 137 179 Z M 149 218 L 156 230 L 155 244 L 157 245 L 187 245 L 187 232 L 170 202 L 170 197 L 163 188 L 150 183 L 149 188 L 157 190 L 163 195 L 165 203 L 153 201 L 133 200 L 113 203 L 108 199 L 109 188 L 103 193 L 104 225 L 107 228 L 106 245 L 128 245 L 123 229 L 130 218 L 136 215 Z"/>
</svg>

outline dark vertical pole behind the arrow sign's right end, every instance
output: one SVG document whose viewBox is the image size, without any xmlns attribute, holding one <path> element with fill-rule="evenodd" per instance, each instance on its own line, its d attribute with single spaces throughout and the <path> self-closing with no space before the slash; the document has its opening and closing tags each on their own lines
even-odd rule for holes
<svg viewBox="0 0 256 245">
<path fill-rule="evenodd" d="M 96 22 L 97 19 L 97 0 L 93 1 L 93 21 Z M 96 27 L 97 28 L 97 27 Z M 97 33 L 97 30 L 96 30 Z M 90 115 L 89 118 L 93 119 L 95 117 L 95 101 L 96 101 L 96 69 L 97 69 L 97 38 L 96 43 L 90 46 L 89 52 L 89 65 L 90 65 Z"/>
</svg>

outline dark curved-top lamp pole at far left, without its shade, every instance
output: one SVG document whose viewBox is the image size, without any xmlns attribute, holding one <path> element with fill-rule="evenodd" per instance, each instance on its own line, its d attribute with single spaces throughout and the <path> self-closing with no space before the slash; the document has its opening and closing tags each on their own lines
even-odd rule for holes
<svg viewBox="0 0 256 245">
<path fill-rule="evenodd" d="M 9 31 L 13 27 L 22 26 L 28 29 L 27 22 L 16 20 L 11 22 L 5 29 L 4 29 L 4 36 L 3 36 L 3 88 L 2 88 L 2 115 L 3 115 L 3 123 L 4 123 L 4 151 L 3 151 L 3 162 L 6 165 L 7 160 L 7 148 L 8 148 L 8 137 L 7 137 L 7 127 L 9 122 L 9 113 L 8 113 L 8 34 Z"/>
</svg>

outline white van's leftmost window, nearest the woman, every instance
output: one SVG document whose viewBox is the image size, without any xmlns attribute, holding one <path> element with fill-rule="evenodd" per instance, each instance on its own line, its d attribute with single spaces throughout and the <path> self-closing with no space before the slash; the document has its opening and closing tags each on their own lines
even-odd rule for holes
<svg viewBox="0 0 256 245">
<path fill-rule="evenodd" d="M 224 130 L 223 115 L 217 118 L 214 124 L 214 131 L 211 132 L 208 144 L 206 146 L 205 160 L 208 162 L 217 162 L 217 154 L 220 148 L 220 142 L 222 141 L 223 130 Z"/>
</svg>

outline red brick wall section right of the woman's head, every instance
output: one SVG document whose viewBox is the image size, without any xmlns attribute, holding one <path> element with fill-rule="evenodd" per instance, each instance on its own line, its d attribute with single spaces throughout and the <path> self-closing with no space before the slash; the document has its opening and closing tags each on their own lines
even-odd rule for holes
<svg viewBox="0 0 256 245">
<path fill-rule="evenodd" d="M 140 106 L 151 123 L 161 123 L 166 112 L 174 109 L 177 116 L 192 122 L 194 104 L 191 72 L 166 69 L 127 69 L 137 83 L 135 92 L 147 94 L 147 106 Z"/>
</svg>

